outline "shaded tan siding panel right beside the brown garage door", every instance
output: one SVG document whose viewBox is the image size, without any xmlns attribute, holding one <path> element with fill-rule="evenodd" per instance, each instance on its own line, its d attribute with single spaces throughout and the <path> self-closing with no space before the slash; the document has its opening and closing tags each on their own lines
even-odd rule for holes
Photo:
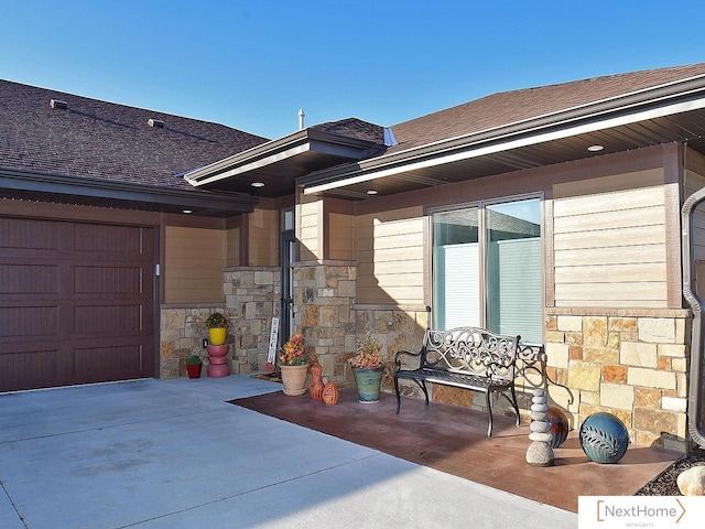
<svg viewBox="0 0 705 529">
<path fill-rule="evenodd" d="M 165 302 L 221 302 L 226 233 L 167 226 L 165 239 Z"/>
</svg>

